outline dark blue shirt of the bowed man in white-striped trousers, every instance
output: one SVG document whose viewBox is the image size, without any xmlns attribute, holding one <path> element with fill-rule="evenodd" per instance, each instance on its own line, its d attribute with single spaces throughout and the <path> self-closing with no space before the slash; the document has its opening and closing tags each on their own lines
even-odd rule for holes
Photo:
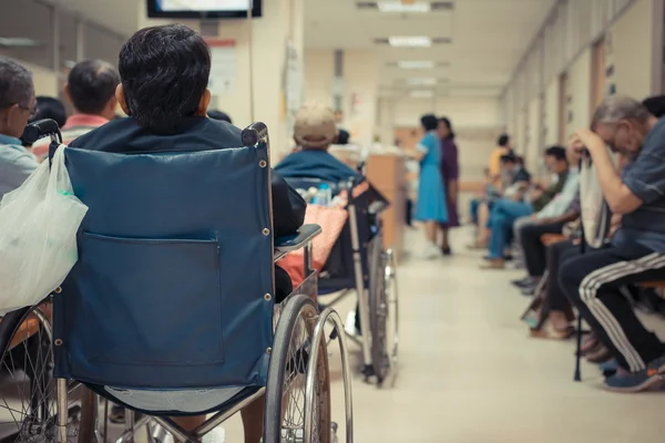
<svg viewBox="0 0 665 443">
<path fill-rule="evenodd" d="M 665 119 L 648 132 L 640 154 L 624 168 L 622 179 L 643 204 L 622 217 L 613 244 L 637 243 L 665 254 Z"/>
</svg>

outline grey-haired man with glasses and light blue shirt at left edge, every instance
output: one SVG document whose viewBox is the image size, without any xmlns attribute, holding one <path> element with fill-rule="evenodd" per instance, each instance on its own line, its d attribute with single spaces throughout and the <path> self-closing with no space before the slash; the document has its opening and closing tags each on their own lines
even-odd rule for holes
<svg viewBox="0 0 665 443">
<path fill-rule="evenodd" d="M 0 198 L 21 186 L 38 163 L 19 137 L 34 112 L 32 73 L 0 58 Z"/>
</svg>

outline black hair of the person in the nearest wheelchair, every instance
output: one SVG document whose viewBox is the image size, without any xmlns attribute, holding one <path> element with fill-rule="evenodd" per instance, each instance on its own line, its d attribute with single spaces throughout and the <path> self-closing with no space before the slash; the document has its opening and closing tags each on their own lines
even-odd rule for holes
<svg viewBox="0 0 665 443">
<path fill-rule="evenodd" d="M 211 75 L 211 50 L 183 24 L 144 28 L 120 50 L 119 68 L 132 117 L 168 133 L 180 119 L 196 114 Z"/>
</svg>

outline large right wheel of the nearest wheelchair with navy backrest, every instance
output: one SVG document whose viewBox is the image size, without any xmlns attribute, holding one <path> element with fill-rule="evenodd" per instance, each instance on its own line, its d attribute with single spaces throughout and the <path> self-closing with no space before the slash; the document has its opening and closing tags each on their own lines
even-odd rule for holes
<svg viewBox="0 0 665 443">
<path fill-rule="evenodd" d="M 304 434 L 305 387 L 314 327 L 318 311 L 314 301 L 299 295 L 288 300 L 275 331 L 268 369 L 264 443 L 330 443 L 330 377 L 328 351 L 321 341 L 316 364 L 315 425 Z"/>
</svg>

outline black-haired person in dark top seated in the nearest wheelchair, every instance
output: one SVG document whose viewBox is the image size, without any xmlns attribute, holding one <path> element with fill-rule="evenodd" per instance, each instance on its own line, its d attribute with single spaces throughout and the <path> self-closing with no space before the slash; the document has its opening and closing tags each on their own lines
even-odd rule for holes
<svg viewBox="0 0 665 443">
<path fill-rule="evenodd" d="M 126 154 L 243 145 L 239 128 L 206 116 L 211 52 L 197 32 L 182 24 L 142 29 L 122 48 L 119 70 L 122 83 L 116 97 L 130 117 L 93 130 L 70 146 Z M 306 204 L 279 175 L 273 174 L 272 179 L 275 236 L 294 234 L 303 225 Z M 275 285 L 277 302 L 293 290 L 288 275 L 280 268 L 276 268 Z M 255 401 L 242 411 L 247 443 L 260 441 L 263 403 Z M 174 421 L 185 430 L 194 430 L 205 416 Z"/>
</svg>

